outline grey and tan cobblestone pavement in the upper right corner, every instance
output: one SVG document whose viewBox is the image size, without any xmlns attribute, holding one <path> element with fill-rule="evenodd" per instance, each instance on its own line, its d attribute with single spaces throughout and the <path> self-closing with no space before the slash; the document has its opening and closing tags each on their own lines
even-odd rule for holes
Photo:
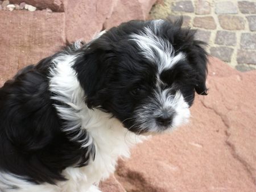
<svg viewBox="0 0 256 192">
<path fill-rule="evenodd" d="M 256 69 L 256 0 L 162 0 L 150 13 L 154 19 L 180 15 L 209 44 L 210 55 L 240 71 Z"/>
</svg>

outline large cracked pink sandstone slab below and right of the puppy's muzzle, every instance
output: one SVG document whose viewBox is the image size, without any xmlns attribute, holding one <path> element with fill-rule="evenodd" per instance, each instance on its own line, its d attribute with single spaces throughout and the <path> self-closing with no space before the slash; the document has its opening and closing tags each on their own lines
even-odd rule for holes
<svg viewBox="0 0 256 192">
<path fill-rule="evenodd" d="M 196 97 L 191 123 L 154 136 L 119 161 L 127 191 L 255 191 L 256 71 L 211 59 L 209 95 Z"/>
</svg>

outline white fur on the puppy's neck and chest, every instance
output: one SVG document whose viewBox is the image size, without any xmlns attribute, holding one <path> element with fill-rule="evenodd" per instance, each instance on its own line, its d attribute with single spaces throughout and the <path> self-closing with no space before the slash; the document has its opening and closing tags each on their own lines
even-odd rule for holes
<svg viewBox="0 0 256 192">
<path fill-rule="evenodd" d="M 93 143 L 96 155 L 94 161 L 91 160 L 87 166 L 64 170 L 63 174 L 68 181 L 57 184 L 61 191 L 86 191 L 91 185 L 97 185 L 114 172 L 117 158 L 129 157 L 129 148 L 144 138 L 128 131 L 119 120 L 111 118 L 111 114 L 98 109 L 90 110 L 85 105 L 84 91 L 71 67 L 75 57 L 62 55 L 53 60 L 55 68 L 51 70 L 49 87 L 56 93 L 52 98 L 68 106 L 55 106 L 59 116 L 69 122 L 63 131 L 72 131 L 78 127 L 85 129 L 89 133 L 88 138 L 79 142 L 82 147 Z M 76 140 L 77 137 L 69 139 Z"/>
</svg>

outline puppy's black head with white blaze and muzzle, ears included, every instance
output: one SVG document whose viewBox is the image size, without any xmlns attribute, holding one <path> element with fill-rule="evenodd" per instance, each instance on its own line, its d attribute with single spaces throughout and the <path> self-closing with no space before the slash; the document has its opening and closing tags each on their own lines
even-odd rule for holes
<svg viewBox="0 0 256 192">
<path fill-rule="evenodd" d="M 110 112 L 136 133 L 187 122 L 195 91 L 206 94 L 207 53 L 195 32 L 180 26 L 133 21 L 93 40 L 79 59 L 82 68 L 74 66 L 87 105 Z"/>
</svg>

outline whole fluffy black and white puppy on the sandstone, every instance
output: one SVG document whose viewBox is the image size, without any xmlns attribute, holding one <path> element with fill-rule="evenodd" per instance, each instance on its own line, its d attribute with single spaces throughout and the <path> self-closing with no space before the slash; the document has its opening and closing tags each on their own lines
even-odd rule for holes
<svg viewBox="0 0 256 192">
<path fill-rule="evenodd" d="M 0 89 L 0 191 L 99 191 L 145 134 L 188 121 L 207 53 L 181 22 L 123 23 Z M 140 133 L 143 133 L 142 135 Z"/>
</svg>

